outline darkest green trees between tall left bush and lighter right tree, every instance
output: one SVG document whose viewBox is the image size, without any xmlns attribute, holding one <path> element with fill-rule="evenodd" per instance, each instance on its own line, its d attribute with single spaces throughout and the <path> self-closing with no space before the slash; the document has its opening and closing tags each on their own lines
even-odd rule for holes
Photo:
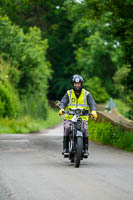
<svg viewBox="0 0 133 200">
<path fill-rule="evenodd" d="M 65 79 L 72 75 L 70 70 L 72 67 L 69 66 L 74 62 L 73 47 L 69 41 L 71 22 L 67 19 L 63 7 L 65 1 L 21 0 L 18 2 L 15 0 L 12 3 L 2 0 L 2 2 L 3 14 L 8 14 L 13 22 L 23 27 L 24 32 L 27 32 L 30 26 L 36 25 L 42 30 L 42 37 L 48 39 L 47 58 L 53 68 L 49 98 L 60 98 L 64 94 L 64 86 L 70 87 Z"/>
</svg>

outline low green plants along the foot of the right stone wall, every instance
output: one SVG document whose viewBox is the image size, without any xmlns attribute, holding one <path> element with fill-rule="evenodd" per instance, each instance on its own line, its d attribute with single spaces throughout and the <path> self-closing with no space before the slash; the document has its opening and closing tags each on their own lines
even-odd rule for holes
<svg viewBox="0 0 133 200">
<path fill-rule="evenodd" d="M 133 151 L 133 131 L 124 131 L 109 122 L 93 122 L 88 124 L 90 139 L 101 144 L 112 145 L 126 151 Z"/>
</svg>

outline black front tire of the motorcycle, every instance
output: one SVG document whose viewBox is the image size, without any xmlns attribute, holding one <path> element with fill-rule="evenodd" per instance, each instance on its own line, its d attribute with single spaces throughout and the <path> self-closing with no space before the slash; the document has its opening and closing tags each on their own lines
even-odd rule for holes
<svg viewBox="0 0 133 200">
<path fill-rule="evenodd" d="M 77 137 L 76 151 L 74 155 L 74 164 L 75 164 L 75 167 L 77 168 L 80 166 L 80 160 L 82 157 L 82 149 L 83 149 L 83 138 Z"/>
</svg>

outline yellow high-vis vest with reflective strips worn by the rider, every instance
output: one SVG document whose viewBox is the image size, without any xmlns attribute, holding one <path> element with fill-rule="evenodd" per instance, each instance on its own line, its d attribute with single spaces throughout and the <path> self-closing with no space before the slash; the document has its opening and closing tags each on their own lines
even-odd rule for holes
<svg viewBox="0 0 133 200">
<path fill-rule="evenodd" d="M 88 91 L 85 89 L 82 89 L 81 94 L 79 98 L 77 99 L 74 90 L 68 90 L 67 91 L 68 97 L 69 97 L 69 103 L 67 104 L 65 110 L 69 111 L 70 108 L 83 108 L 85 110 L 89 111 L 89 105 L 87 104 L 87 95 L 89 94 Z M 73 116 L 65 114 L 65 118 L 67 120 L 72 120 Z M 89 116 L 80 116 L 82 120 L 88 121 Z"/>
</svg>

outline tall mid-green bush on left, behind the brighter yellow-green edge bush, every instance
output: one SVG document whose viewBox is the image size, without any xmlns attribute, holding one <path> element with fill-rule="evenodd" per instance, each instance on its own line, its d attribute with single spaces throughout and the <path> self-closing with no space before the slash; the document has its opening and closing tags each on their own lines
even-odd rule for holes
<svg viewBox="0 0 133 200">
<path fill-rule="evenodd" d="M 50 63 L 46 60 L 47 48 L 47 39 L 42 39 L 38 28 L 30 28 L 24 34 L 8 17 L 0 16 L 0 52 L 6 62 L 10 61 L 10 83 L 24 103 L 24 112 L 44 119 L 48 105 L 48 80 L 51 77 Z M 2 103 L 1 109 L 4 109 Z"/>
</svg>

